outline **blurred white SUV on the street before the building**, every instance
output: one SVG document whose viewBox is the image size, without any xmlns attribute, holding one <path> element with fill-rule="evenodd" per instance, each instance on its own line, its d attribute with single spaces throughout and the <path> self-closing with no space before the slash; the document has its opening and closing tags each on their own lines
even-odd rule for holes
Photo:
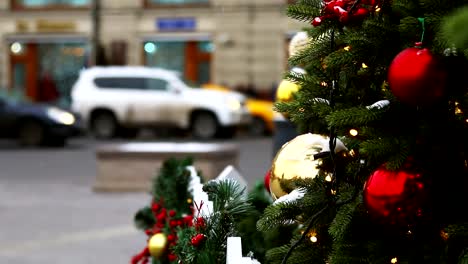
<svg viewBox="0 0 468 264">
<path fill-rule="evenodd" d="M 200 139 L 229 137 L 250 121 L 242 94 L 191 88 L 177 72 L 159 68 L 82 70 L 71 98 L 73 111 L 98 138 L 158 126 L 189 130 Z"/>
</svg>

